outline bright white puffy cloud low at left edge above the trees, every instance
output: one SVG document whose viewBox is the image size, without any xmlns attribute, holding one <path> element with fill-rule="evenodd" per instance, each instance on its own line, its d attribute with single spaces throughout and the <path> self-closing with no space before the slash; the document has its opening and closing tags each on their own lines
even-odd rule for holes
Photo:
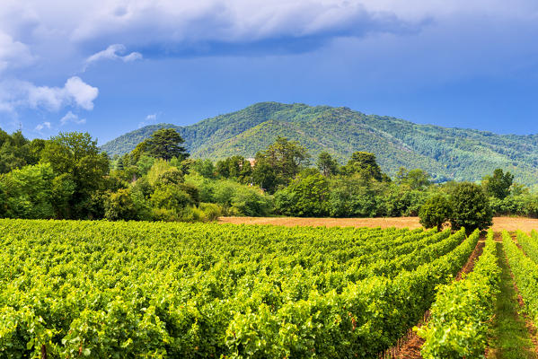
<svg viewBox="0 0 538 359">
<path fill-rule="evenodd" d="M 77 76 L 67 79 L 63 87 L 36 86 L 27 81 L 0 83 L 0 109 L 13 111 L 18 107 L 57 111 L 67 106 L 93 109 L 99 89 Z"/>
</svg>

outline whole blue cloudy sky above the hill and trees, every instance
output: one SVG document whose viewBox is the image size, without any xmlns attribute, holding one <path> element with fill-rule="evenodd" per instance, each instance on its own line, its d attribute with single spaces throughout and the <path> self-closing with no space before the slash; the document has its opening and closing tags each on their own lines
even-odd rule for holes
<svg viewBox="0 0 538 359">
<path fill-rule="evenodd" d="M 29 138 L 260 101 L 538 133 L 535 0 L 0 2 L 0 128 Z"/>
</svg>

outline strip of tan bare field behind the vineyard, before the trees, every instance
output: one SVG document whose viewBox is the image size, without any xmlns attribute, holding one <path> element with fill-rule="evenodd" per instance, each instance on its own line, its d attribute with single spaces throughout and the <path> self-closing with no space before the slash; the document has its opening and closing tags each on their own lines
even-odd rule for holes
<svg viewBox="0 0 538 359">
<path fill-rule="evenodd" d="M 395 218 L 296 218 L 296 217 L 220 217 L 219 223 L 235 224 L 274 224 L 293 227 L 295 225 L 327 226 L 327 227 L 397 227 L 419 228 L 419 217 Z M 531 232 L 538 230 L 538 219 L 524 217 L 494 217 L 493 230 Z"/>
</svg>

